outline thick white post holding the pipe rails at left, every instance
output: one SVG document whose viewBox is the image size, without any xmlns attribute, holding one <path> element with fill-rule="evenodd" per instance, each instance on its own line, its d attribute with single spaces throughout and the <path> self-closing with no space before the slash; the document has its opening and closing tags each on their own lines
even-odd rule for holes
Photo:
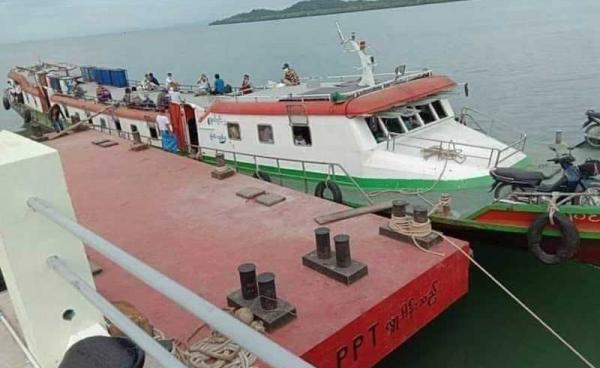
<svg viewBox="0 0 600 368">
<path fill-rule="evenodd" d="M 0 132 L 0 268 L 27 346 L 43 368 L 55 368 L 72 336 L 98 327 L 102 315 L 46 265 L 60 256 L 93 285 L 81 241 L 27 206 L 38 196 L 75 218 L 58 152 Z"/>
</svg>

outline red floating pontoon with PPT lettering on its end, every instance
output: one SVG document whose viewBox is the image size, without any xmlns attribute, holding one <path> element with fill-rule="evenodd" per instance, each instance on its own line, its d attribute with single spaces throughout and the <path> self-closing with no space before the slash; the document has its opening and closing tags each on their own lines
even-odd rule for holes
<svg viewBox="0 0 600 368">
<path fill-rule="evenodd" d="M 436 246 L 440 257 L 381 237 L 385 219 L 374 215 L 330 226 L 332 236 L 350 235 L 352 257 L 369 267 L 345 286 L 301 261 L 315 247 L 313 218 L 342 206 L 243 175 L 218 181 L 211 166 L 158 149 L 132 152 L 127 141 L 91 143 L 100 138 L 88 131 L 48 143 L 60 152 L 79 222 L 219 306 L 239 288 L 239 264 L 274 272 L 278 296 L 298 317 L 270 337 L 318 367 L 372 366 L 468 290 L 468 262 L 452 246 Z M 286 200 L 269 208 L 235 195 L 248 186 Z M 91 257 L 104 267 L 98 290 L 133 303 L 167 335 L 185 341 L 202 324 Z"/>
</svg>

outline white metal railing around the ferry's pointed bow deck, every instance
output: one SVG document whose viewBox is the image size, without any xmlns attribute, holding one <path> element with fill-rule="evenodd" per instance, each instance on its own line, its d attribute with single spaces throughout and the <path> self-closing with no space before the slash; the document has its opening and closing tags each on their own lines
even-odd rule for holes
<svg viewBox="0 0 600 368">
<path fill-rule="evenodd" d="M 419 144 L 418 142 L 426 142 Z M 397 147 L 414 148 L 421 151 L 437 152 L 444 155 L 447 152 L 464 158 L 473 158 L 487 161 L 488 168 L 497 167 L 502 162 L 525 149 L 527 134 L 522 133 L 514 142 L 504 148 L 482 146 L 470 143 L 457 142 L 453 140 L 440 140 L 424 137 L 413 137 L 404 134 L 394 134 L 386 142 L 386 149 L 396 152 Z M 434 149 L 434 151 L 432 150 Z"/>
</svg>

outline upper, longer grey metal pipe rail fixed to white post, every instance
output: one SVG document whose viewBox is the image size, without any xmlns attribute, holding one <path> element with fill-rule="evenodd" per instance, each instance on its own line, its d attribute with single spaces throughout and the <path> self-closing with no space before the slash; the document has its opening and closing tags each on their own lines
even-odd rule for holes
<svg viewBox="0 0 600 368">
<path fill-rule="evenodd" d="M 242 348 L 256 354 L 263 362 L 275 368 L 313 367 L 289 350 L 271 341 L 266 336 L 211 304 L 193 291 L 66 217 L 44 200 L 29 198 L 27 205 L 212 328 L 229 337 Z"/>
</svg>

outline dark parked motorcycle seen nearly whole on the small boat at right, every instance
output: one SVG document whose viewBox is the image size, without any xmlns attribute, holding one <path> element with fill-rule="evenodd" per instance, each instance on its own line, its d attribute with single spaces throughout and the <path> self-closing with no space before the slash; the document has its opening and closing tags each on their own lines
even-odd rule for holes
<svg viewBox="0 0 600 368">
<path fill-rule="evenodd" d="M 590 193 L 589 197 L 596 202 L 595 198 L 600 194 L 600 180 L 595 177 L 600 175 L 600 161 L 588 159 L 581 165 L 575 165 L 575 157 L 572 154 L 574 147 L 569 147 L 568 153 L 562 154 L 555 147 L 550 147 L 550 149 L 556 153 L 556 157 L 547 161 L 560 165 L 560 169 L 551 175 L 545 175 L 541 171 L 502 167 L 490 170 L 490 176 L 494 179 L 490 191 L 494 192 L 494 199 L 505 199 L 513 192 L 560 192 Z M 544 183 L 559 173 L 562 175 L 558 180 Z M 509 190 L 508 193 L 507 190 Z M 587 196 L 583 202 L 581 197 L 573 197 L 571 202 L 573 204 L 592 204 Z"/>
</svg>

